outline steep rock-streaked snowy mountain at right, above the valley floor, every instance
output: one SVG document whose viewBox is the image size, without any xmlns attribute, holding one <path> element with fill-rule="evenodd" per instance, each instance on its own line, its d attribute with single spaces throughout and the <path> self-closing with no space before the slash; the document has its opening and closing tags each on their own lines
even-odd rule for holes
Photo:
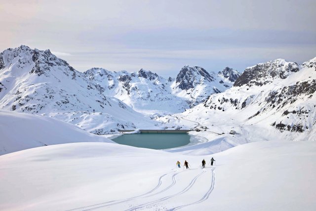
<svg viewBox="0 0 316 211">
<path fill-rule="evenodd" d="M 231 89 L 211 95 L 203 106 L 238 116 L 248 124 L 311 131 L 316 121 L 315 66 L 316 58 L 300 68 L 282 59 L 258 64 L 247 68 Z"/>
</svg>

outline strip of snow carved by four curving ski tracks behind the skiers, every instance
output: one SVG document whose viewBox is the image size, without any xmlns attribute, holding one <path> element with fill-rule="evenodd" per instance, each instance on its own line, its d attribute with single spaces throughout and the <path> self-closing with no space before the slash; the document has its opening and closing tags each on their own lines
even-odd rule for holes
<svg viewBox="0 0 316 211">
<path fill-rule="evenodd" d="M 109 201 L 69 211 L 170 210 L 175 211 L 207 200 L 215 186 L 215 167 L 172 169 L 158 179 L 152 190 L 127 199 Z M 197 194 L 198 193 L 198 194 Z M 185 198 L 186 200 L 183 200 Z"/>
</svg>

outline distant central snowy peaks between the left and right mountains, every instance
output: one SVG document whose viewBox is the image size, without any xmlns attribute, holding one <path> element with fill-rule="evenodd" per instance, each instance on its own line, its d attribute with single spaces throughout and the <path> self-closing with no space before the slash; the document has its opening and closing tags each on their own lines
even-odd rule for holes
<svg viewBox="0 0 316 211">
<path fill-rule="evenodd" d="M 227 67 L 216 75 L 201 67 L 185 66 L 176 79 L 169 77 L 167 80 L 143 69 L 128 73 L 92 68 L 84 75 L 99 84 L 106 95 L 120 99 L 136 111 L 174 114 L 203 102 L 212 93 L 231 87 L 240 73 Z"/>
</svg>

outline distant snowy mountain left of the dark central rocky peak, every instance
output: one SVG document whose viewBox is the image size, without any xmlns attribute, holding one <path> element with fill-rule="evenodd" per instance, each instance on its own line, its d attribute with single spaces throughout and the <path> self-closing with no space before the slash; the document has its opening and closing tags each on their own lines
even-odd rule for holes
<svg viewBox="0 0 316 211">
<path fill-rule="evenodd" d="M 136 111 L 179 113 L 189 108 L 188 100 L 171 93 L 169 81 L 151 71 L 128 73 L 92 68 L 84 76 L 97 83 L 106 95 L 120 99 Z"/>
</svg>

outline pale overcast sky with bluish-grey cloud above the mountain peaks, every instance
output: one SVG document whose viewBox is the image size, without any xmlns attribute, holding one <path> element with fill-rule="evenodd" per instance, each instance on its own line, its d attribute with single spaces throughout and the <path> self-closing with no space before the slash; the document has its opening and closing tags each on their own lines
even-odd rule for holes
<svg viewBox="0 0 316 211">
<path fill-rule="evenodd" d="M 0 0 L 0 51 L 50 49 L 80 72 L 242 72 L 316 57 L 315 11 L 315 0 Z"/>
</svg>

